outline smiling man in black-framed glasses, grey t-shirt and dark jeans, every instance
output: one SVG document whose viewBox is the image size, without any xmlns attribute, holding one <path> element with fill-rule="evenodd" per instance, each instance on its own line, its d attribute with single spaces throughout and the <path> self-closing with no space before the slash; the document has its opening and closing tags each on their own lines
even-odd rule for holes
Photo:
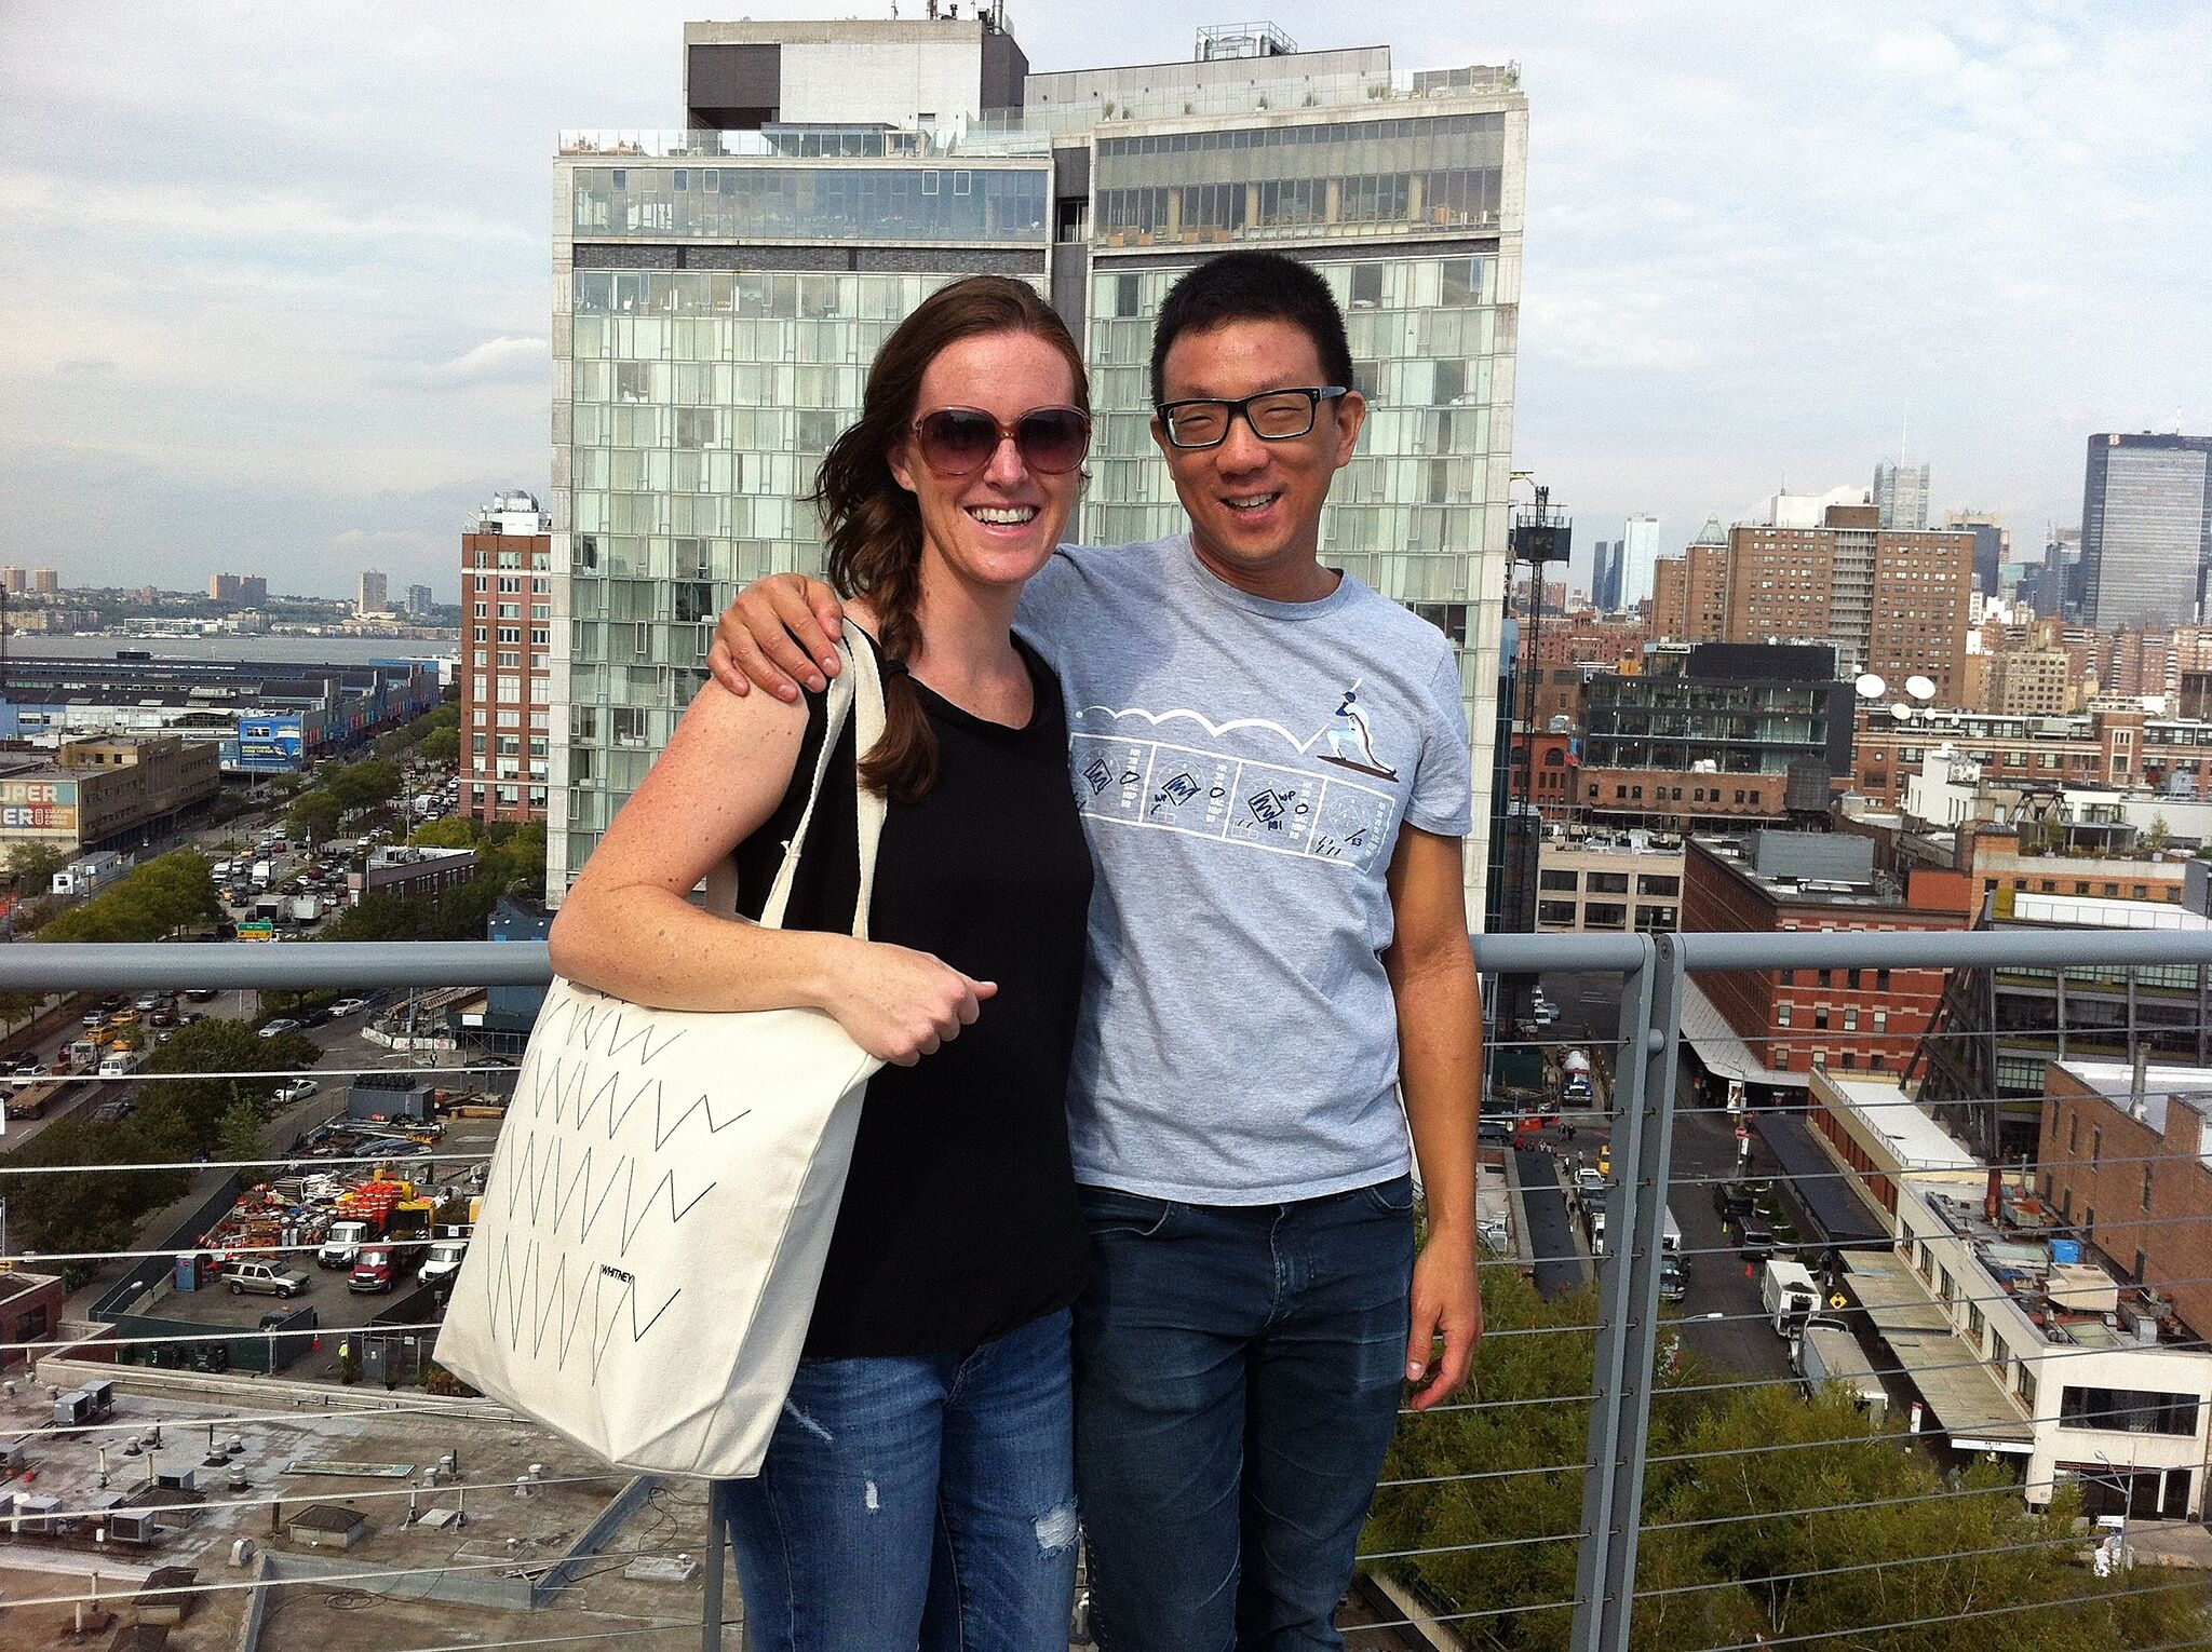
<svg viewBox="0 0 2212 1652">
<path fill-rule="evenodd" d="M 1018 619 L 1097 862 L 1068 1104 L 1093 1625 L 1338 1648 L 1400 1384 L 1444 1400 L 1482 1331 L 1467 721 L 1447 641 L 1321 564 L 1367 416 L 1327 285 L 1267 252 L 1192 270 L 1152 400 L 1188 535 L 1064 548 Z M 832 635 L 827 586 L 765 579 L 714 672 L 794 697 Z"/>
</svg>

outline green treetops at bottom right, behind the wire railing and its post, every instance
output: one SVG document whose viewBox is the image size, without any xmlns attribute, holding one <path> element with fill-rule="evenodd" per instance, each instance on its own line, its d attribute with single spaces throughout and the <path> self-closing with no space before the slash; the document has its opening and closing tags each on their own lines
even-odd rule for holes
<svg viewBox="0 0 2212 1652">
<path fill-rule="evenodd" d="M 1531 1404 L 1407 1418 L 1383 1480 L 1444 1480 L 1387 1484 L 1360 1550 L 1433 1550 L 1387 1564 L 1451 1608 L 1520 1608 L 1482 1617 L 1482 1645 L 1551 1652 L 1566 1648 L 1571 1623 L 1553 1603 L 1575 1599 L 1582 1471 L 1557 1464 L 1588 1453 L 1588 1404 L 1575 1395 L 1590 1382 L 1595 1294 L 1544 1303 L 1517 1274 L 1486 1267 L 1482 1298 L 1491 1336 L 1473 1398 Z M 1659 1378 L 1637 1546 L 1639 1652 L 1825 1634 L 1874 1645 L 1851 1630 L 2022 1601 L 2046 1606 L 1891 1630 L 1880 1648 L 2121 1652 L 2201 1630 L 2188 1590 L 2059 1606 L 2130 1588 L 2084 1566 L 2070 1495 L 2031 1513 L 1993 1460 L 1947 1477 L 1900 1426 L 1871 1424 L 1840 1391 L 1812 1402 L 1783 1384 L 1690 1391 L 1725 1380 L 1694 1358 Z"/>
</svg>

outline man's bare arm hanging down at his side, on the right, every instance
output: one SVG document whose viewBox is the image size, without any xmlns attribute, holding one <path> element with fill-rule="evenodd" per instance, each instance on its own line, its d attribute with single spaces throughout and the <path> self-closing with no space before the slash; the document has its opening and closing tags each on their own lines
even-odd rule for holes
<svg viewBox="0 0 2212 1652">
<path fill-rule="evenodd" d="M 1482 1110 L 1482 993 L 1467 938 L 1460 838 L 1407 825 L 1389 862 L 1396 940 L 1383 953 L 1398 1000 L 1398 1084 L 1429 1201 L 1429 1243 L 1413 1263 L 1405 1380 L 1413 1409 L 1449 1398 L 1482 1340 L 1475 1283 L 1475 1123 Z M 1436 1353 L 1442 1338 L 1444 1351 Z"/>
</svg>

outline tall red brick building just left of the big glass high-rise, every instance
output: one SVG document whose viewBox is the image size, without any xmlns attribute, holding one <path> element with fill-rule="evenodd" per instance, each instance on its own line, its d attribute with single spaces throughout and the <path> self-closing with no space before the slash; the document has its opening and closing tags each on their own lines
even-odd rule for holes
<svg viewBox="0 0 2212 1652">
<path fill-rule="evenodd" d="M 460 535 L 460 812 L 544 820 L 553 703 L 553 520 L 500 493 Z"/>
</svg>

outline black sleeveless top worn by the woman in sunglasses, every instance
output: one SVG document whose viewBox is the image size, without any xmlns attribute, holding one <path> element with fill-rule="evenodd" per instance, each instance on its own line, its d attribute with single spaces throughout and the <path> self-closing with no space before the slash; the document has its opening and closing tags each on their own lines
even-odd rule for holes
<svg viewBox="0 0 2212 1652">
<path fill-rule="evenodd" d="M 807 1327 L 810 1358 L 971 1349 L 1066 1307 L 1084 1285 L 1066 1088 L 1091 851 L 1068 787 L 1060 681 L 1015 646 L 1035 686 L 1026 728 L 971 717 L 914 683 L 938 734 L 938 783 L 885 814 L 867 933 L 998 982 L 998 995 L 936 1055 L 869 1081 Z M 748 918 L 759 918 L 799 829 L 825 723 L 814 697 L 792 790 L 737 849 Z M 847 719 L 785 929 L 852 929 L 860 891 L 852 776 Z"/>
</svg>

